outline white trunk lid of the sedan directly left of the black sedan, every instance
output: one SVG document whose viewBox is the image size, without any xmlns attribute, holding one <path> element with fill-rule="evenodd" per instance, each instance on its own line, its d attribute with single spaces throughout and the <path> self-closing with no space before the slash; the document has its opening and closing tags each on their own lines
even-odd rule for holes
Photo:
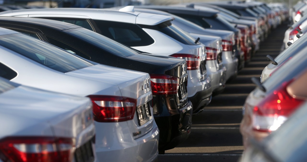
<svg viewBox="0 0 307 162">
<path fill-rule="evenodd" d="M 115 84 L 119 87 L 122 96 L 135 99 L 142 97 L 143 103 L 140 104 L 144 104 L 145 100 L 152 98 L 148 73 L 98 64 L 66 74 Z"/>
</svg>

